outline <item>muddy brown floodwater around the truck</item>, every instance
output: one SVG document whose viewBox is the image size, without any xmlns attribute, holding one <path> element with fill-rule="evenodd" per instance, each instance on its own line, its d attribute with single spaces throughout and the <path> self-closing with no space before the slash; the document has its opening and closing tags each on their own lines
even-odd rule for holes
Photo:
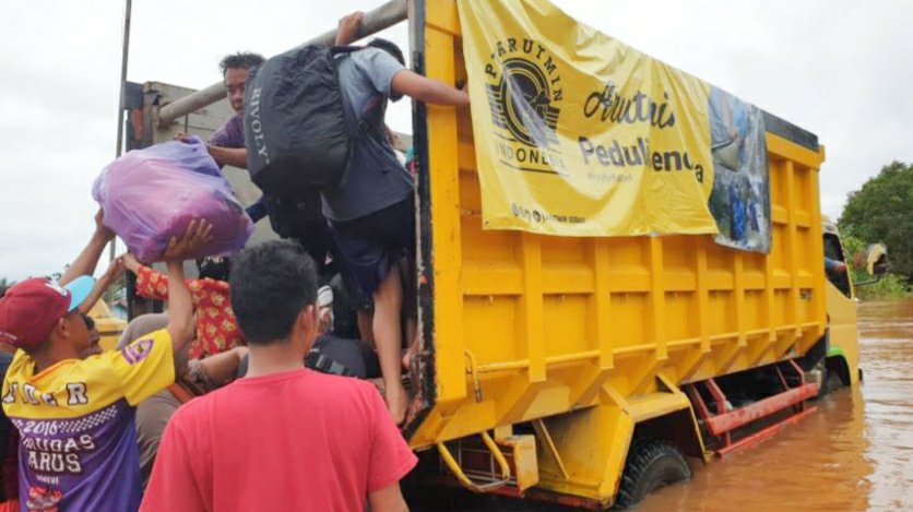
<svg viewBox="0 0 913 512">
<path fill-rule="evenodd" d="M 913 300 L 864 302 L 858 313 L 858 389 L 826 396 L 817 413 L 758 446 L 689 461 L 690 481 L 636 510 L 913 511 Z M 444 510 L 568 509 L 464 493 Z"/>
</svg>

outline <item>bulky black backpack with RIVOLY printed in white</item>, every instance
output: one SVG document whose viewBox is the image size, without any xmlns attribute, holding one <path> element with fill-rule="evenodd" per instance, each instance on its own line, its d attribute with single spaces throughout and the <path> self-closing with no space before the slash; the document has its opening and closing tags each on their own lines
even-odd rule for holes
<svg viewBox="0 0 913 512">
<path fill-rule="evenodd" d="M 356 47 L 308 45 L 249 72 L 245 145 L 253 182 L 266 195 L 303 198 L 339 186 L 352 152 L 352 131 L 333 56 Z"/>
</svg>

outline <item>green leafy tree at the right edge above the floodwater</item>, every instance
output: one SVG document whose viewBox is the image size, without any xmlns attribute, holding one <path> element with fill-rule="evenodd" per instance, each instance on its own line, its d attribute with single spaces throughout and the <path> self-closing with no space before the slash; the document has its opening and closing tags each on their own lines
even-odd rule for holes
<svg viewBox="0 0 913 512">
<path fill-rule="evenodd" d="M 850 192 L 839 226 L 844 236 L 885 243 L 891 272 L 913 283 L 913 165 L 887 165 Z"/>
</svg>

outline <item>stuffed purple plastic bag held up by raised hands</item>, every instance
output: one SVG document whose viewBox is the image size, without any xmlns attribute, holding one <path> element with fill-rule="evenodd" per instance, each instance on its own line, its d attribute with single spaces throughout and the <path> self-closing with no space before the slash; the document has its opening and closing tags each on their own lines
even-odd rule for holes
<svg viewBox="0 0 913 512">
<path fill-rule="evenodd" d="M 192 258 L 240 250 L 253 223 L 199 138 L 127 153 L 105 167 L 92 188 L 114 230 L 140 261 L 156 261 L 171 237 L 194 218 L 213 226 L 213 240 Z"/>
</svg>

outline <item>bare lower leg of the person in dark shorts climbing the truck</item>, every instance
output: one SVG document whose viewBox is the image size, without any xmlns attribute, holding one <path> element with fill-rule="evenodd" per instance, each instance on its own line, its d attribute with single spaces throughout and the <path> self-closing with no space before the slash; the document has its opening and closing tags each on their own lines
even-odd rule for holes
<svg viewBox="0 0 913 512">
<path fill-rule="evenodd" d="M 401 347 L 403 343 L 400 313 L 403 306 L 403 287 L 396 265 L 375 291 L 374 334 L 380 371 L 383 374 L 384 397 L 390 416 L 396 425 L 403 422 L 408 397 L 402 383 Z"/>
</svg>

